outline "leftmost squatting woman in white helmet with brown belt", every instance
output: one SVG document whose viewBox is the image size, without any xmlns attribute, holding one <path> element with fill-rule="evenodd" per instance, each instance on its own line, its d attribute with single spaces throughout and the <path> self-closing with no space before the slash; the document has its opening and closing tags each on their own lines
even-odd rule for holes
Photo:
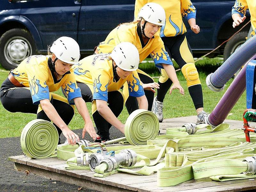
<svg viewBox="0 0 256 192">
<path fill-rule="evenodd" d="M 85 123 L 83 137 L 88 132 L 95 139 L 92 120 L 71 69 L 80 58 L 79 45 L 74 39 L 63 36 L 53 42 L 50 52 L 46 56 L 32 55 L 11 70 L 0 89 L 4 108 L 10 112 L 34 113 L 37 119 L 52 120 L 59 135 L 62 132 L 73 145 L 79 137 L 68 124 L 74 115 L 75 104 Z M 67 99 L 53 93 L 60 87 Z"/>
</svg>

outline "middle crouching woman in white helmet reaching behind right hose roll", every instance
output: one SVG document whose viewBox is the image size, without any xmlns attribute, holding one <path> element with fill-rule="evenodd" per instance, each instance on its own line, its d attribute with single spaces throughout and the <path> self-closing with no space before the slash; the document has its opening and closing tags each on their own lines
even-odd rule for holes
<svg viewBox="0 0 256 192">
<path fill-rule="evenodd" d="M 148 109 L 148 101 L 140 84 L 140 62 L 137 48 L 128 42 L 117 44 L 111 54 L 94 54 L 73 65 L 77 86 L 85 102 L 92 102 L 92 117 L 98 129 L 96 142 L 110 140 L 113 125 L 124 133 L 117 117 L 123 110 L 124 95 L 119 90 L 128 83 L 129 95 L 137 99 L 140 109 Z"/>
</svg>

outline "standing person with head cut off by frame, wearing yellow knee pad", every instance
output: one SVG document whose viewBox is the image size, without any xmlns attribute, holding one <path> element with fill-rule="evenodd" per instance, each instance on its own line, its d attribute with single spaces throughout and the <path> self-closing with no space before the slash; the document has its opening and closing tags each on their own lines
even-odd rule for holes
<svg viewBox="0 0 256 192">
<path fill-rule="evenodd" d="M 160 4 L 165 11 L 166 23 L 160 30 L 160 36 L 164 42 L 165 50 L 179 65 L 183 76 L 187 81 L 188 92 L 193 100 L 197 116 L 197 124 L 204 123 L 207 113 L 204 112 L 203 92 L 199 75 L 195 66 L 192 50 L 187 42 L 187 29 L 182 18 L 185 18 L 191 30 L 197 34 L 200 28 L 196 25 L 196 8 L 190 0 L 136 0 L 134 17 L 140 17 L 140 10 L 148 3 Z M 166 93 L 172 85 L 171 79 L 161 69 L 161 76 L 158 80 L 160 88 L 154 98 L 152 111 L 158 116 L 159 121 L 163 120 L 163 101 Z"/>
</svg>

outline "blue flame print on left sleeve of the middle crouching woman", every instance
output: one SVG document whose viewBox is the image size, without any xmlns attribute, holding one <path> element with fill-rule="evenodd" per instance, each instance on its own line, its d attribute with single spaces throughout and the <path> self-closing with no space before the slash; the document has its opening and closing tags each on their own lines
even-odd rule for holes
<svg viewBox="0 0 256 192">
<path fill-rule="evenodd" d="M 104 101 L 108 101 L 108 83 L 105 86 L 102 86 L 102 84 L 100 83 L 100 75 L 98 77 L 98 79 L 95 79 L 93 82 L 93 99 L 94 100 L 104 100 Z"/>
</svg>

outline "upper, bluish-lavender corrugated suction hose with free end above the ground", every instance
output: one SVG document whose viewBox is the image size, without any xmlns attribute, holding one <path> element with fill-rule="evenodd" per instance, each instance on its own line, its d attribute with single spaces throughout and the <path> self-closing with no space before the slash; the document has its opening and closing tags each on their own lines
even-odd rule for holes
<svg viewBox="0 0 256 192">
<path fill-rule="evenodd" d="M 211 82 L 216 87 L 223 87 L 228 80 L 256 54 L 256 36 L 253 36 L 236 51 L 212 74 Z"/>
</svg>

